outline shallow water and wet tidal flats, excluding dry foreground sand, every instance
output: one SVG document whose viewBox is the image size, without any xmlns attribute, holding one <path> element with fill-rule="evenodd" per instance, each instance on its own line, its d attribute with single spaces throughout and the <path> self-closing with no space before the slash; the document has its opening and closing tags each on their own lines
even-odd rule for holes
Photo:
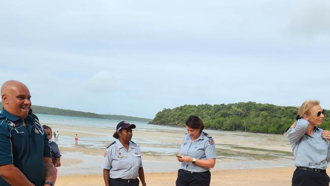
<svg viewBox="0 0 330 186">
<path fill-rule="evenodd" d="M 72 131 L 75 133 L 92 134 L 92 137 L 79 136 L 79 146 L 92 149 L 105 149 L 114 139 L 105 133 L 89 132 L 88 128 L 99 128 L 114 131 L 120 120 L 80 118 L 70 116 L 55 116 L 38 114 L 42 123 L 62 126 L 85 127 L 86 130 L 55 129 Z M 159 160 L 143 160 L 146 172 L 175 171 L 180 167 L 175 154 L 178 153 L 180 143 L 186 129 L 184 127 L 169 127 L 149 125 L 146 122 L 135 122 L 140 133 L 146 135 L 133 136 L 143 154 L 158 157 Z M 60 132 L 61 132 L 60 131 Z M 246 132 L 205 130 L 216 142 L 216 169 L 248 169 L 267 167 L 293 167 L 291 147 L 283 135 L 256 134 Z M 162 134 L 159 138 L 153 134 Z M 166 140 L 163 140 L 166 139 Z M 72 136 L 60 135 L 57 144 L 61 147 L 74 147 Z M 62 166 L 59 174 L 89 174 L 102 173 L 100 168 L 103 156 L 82 154 L 81 152 L 67 152 L 62 158 L 77 158 L 83 163 Z"/>
</svg>

